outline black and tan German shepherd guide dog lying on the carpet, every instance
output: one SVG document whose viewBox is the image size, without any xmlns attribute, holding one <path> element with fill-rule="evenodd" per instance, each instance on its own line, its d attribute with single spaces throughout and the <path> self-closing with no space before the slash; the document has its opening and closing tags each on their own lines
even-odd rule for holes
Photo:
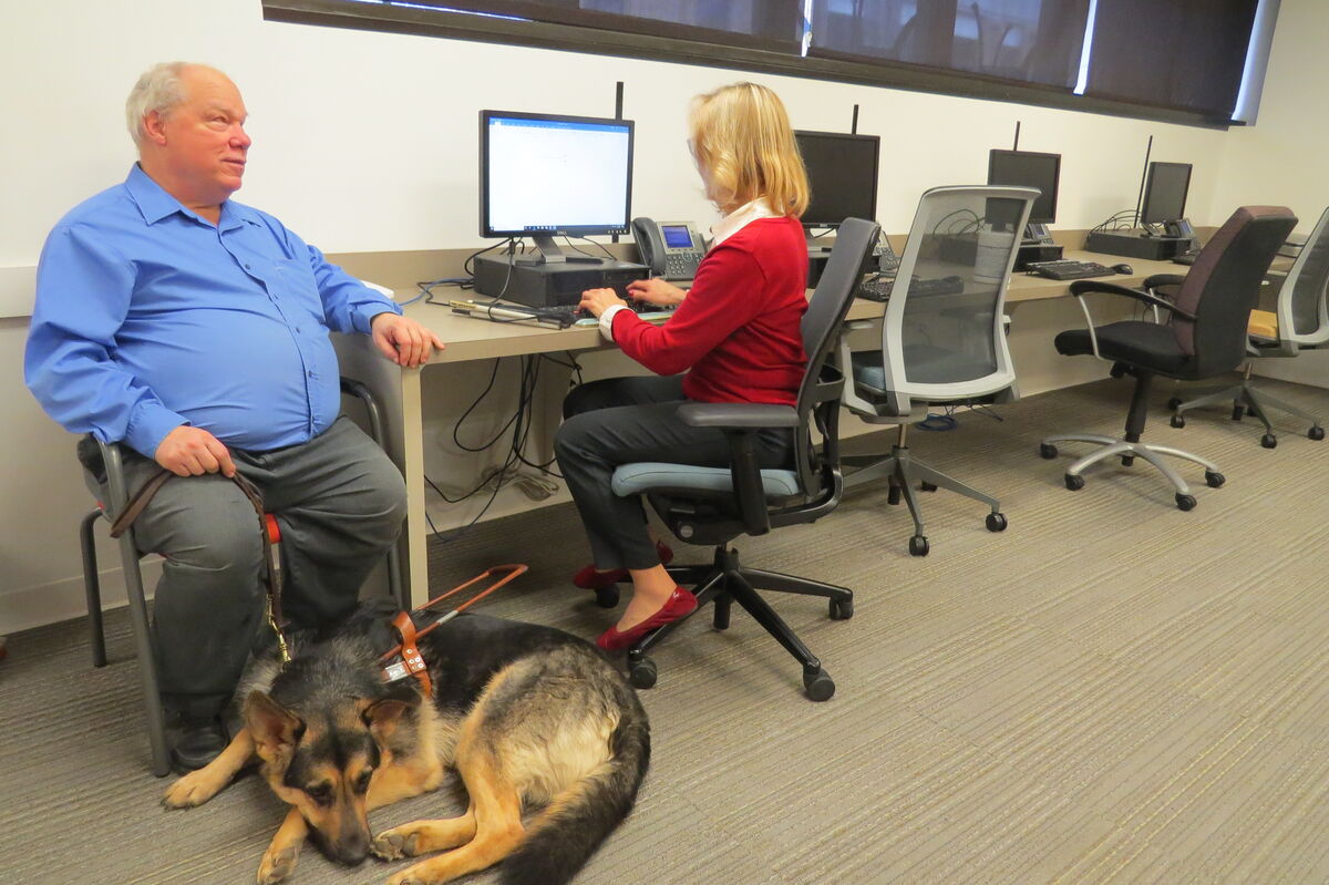
<svg viewBox="0 0 1329 885">
<path fill-rule="evenodd" d="M 391 885 L 447 882 L 498 861 L 504 885 L 570 881 L 631 811 L 650 763 L 650 726 L 598 648 L 570 634 L 462 614 L 420 639 L 433 682 L 384 683 L 361 606 L 326 638 L 291 637 L 294 659 L 255 659 L 242 680 L 245 727 L 207 767 L 166 791 L 167 808 L 218 793 L 253 757 L 291 805 L 258 869 L 291 874 L 304 837 L 348 865 L 444 852 Z M 371 836 L 367 812 L 436 789 L 456 768 L 469 807 Z M 524 823 L 522 813 L 533 811 Z"/>
</svg>

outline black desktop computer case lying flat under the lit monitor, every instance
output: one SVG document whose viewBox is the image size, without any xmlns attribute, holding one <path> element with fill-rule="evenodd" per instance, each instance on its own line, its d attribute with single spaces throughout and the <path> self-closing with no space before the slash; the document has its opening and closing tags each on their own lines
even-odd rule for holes
<svg viewBox="0 0 1329 885">
<path fill-rule="evenodd" d="M 517 258 L 476 258 L 476 292 L 526 307 L 560 307 L 575 304 L 587 288 L 611 288 L 626 299 L 629 283 L 650 276 L 646 264 L 629 262 L 537 264 Z"/>
</svg>

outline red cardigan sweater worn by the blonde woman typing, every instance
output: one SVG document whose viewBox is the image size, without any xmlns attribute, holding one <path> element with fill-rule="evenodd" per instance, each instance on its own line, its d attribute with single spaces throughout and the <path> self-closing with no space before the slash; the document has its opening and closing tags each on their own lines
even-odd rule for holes
<svg viewBox="0 0 1329 885">
<path fill-rule="evenodd" d="M 663 326 L 614 315 L 614 342 L 700 403 L 793 405 L 807 356 L 808 248 L 796 218 L 759 218 L 711 248 Z"/>
</svg>

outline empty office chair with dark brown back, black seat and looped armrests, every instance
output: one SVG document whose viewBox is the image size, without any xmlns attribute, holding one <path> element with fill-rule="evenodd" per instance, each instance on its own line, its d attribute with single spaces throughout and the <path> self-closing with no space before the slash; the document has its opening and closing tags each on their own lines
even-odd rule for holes
<svg viewBox="0 0 1329 885">
<path fill-rule="evenodd" d="M 1123 437 L 1065 433 L 1049 436 L 1039 445 L 1039 454 L 1045 458 L 1057 457 L 1057 442 L 1103 446 L 1066 469 L 1067 489 L 1083 488 L 1084 477 L 1080 474 L 1098 461 L 1120 457 L 1124 466 L 1131 466 L 1136 457 L 1142 457 L 1172 482 L 1176 506 L 1189 510 L 1195 506 L 1195 496 L 1181 476 L 1163 461 L 1164 454 L 1201 465 L 1211 488 L 1223 485 L 1224 477 L 1212 461 L 1172 446 L 1140 442 L 1148 415 L 1150 387 L 1156 375 L 1201 380 L 1231 372 L 1241 364 L 1247 323 L 1260 295 L 1261 280 L 1278 246 L 1296 225 L 1297 218 L 1289 209 L 1243 206 L 1213 234 L 1184 278 L 1155 274 L 1144 280 L 1144 288 L 1127 288 L 1098 279 L 1071 283 L 1071 295 L 1084 311 L 1088 328 L 1058 335 L 1057 351 L 1065 356 L 1092 355 L 1107 360 L 1114 364 L 1114 375 L 1134 375 L 1136 380 Z M 1175 286 L 1175 298 L 1159 298 L 1155 290 L 1163 286 Z M 1084 304 L 1084 295 L 1091 292 L 1132 298 L 1167 311 L 1170 319 L 1167 323 L 1123 320 L 1094 326 Z"/>
</svg>

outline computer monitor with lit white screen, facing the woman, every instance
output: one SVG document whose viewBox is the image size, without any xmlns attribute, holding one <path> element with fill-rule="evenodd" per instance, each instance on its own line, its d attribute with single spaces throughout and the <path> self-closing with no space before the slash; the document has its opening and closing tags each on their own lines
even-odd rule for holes
<svg viewBox="0 0 1329 885">
<path fill-rule="evenodd" d="M 530 237 L 545 262 L 554 237 L 626 234 L 633 121 L 480 112 L 480 235 Z"/>
</svg>

